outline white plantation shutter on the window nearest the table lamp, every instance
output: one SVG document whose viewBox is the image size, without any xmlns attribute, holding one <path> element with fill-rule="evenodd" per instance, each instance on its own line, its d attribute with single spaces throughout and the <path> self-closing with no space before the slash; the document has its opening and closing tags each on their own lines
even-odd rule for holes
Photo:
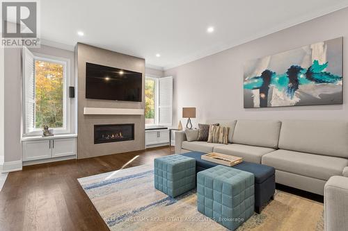
<svg viewBox="0 0 348 231">
<path fill-rule="evenodd" d="M 173 77 L 158 79 L 158 123 L 172 125 Z"/>
</svg>

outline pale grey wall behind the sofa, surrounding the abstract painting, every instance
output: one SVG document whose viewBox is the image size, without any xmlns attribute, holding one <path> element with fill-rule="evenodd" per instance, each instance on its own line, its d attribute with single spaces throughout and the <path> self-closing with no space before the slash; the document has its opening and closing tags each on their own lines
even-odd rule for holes
<svg viewBox="0 0 348 231">
<path fill-rule="evenodd" d="M 197 119 L 348 119 L 348 87 L 344 81 L 343 105 L 244 109 L 243 65 L 260 58 L 314 42 L 344 37 L 344 58 L 348 57 L 348 8 L 312 21 L 247 42 L 164 71 L 174 76 L 173 124 L 181 119 L 183 107 L 196 107 Z M 219 31 L 216 31 L 219 33 Z M 344 74 L 348 66 L 344 62 Z M 346 77 L 345 77 L 346 78 Z M 186 119 L 182 119 L 186 124 Z"/>
</svg>

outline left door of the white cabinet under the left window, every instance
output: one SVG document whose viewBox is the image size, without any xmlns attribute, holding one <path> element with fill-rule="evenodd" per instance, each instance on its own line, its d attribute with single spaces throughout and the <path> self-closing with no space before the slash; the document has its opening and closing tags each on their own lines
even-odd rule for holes
<svg viewBox="0 0 348 231">
<path fill-rule="evenodd" d="M 50 142 L 49 139 L 23 142 L 23 161 L 51 158 Z"/>
</svg>

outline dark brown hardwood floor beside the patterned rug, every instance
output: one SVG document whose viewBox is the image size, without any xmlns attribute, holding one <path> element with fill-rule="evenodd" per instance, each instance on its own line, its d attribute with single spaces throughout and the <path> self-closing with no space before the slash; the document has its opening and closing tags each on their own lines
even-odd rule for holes
<svg viewBox="0 0 348 231">
<path fill-rule="evenodd" d="M 0 192 L 0 230 L 109 230 L 77 178 L 148 164 L 174 148 L 25 166 Z"/>
</svg>

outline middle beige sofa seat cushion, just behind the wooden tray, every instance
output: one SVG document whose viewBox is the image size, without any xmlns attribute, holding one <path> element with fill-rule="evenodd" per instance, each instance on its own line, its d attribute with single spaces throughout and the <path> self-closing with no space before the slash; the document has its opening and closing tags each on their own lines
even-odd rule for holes
<svg viewBox="0 0 348 231">
<path fill-rule="evenodd" d="M 275 151 L 274 148 L 264 148 L 258 146 L 249 146 L 244 144 L 228 144 L 226 146 L 214 147 L 214 152 L 227 155 L 243 157 L 247 162 L 260 164 L 262 155 Z"/>
</svg>

